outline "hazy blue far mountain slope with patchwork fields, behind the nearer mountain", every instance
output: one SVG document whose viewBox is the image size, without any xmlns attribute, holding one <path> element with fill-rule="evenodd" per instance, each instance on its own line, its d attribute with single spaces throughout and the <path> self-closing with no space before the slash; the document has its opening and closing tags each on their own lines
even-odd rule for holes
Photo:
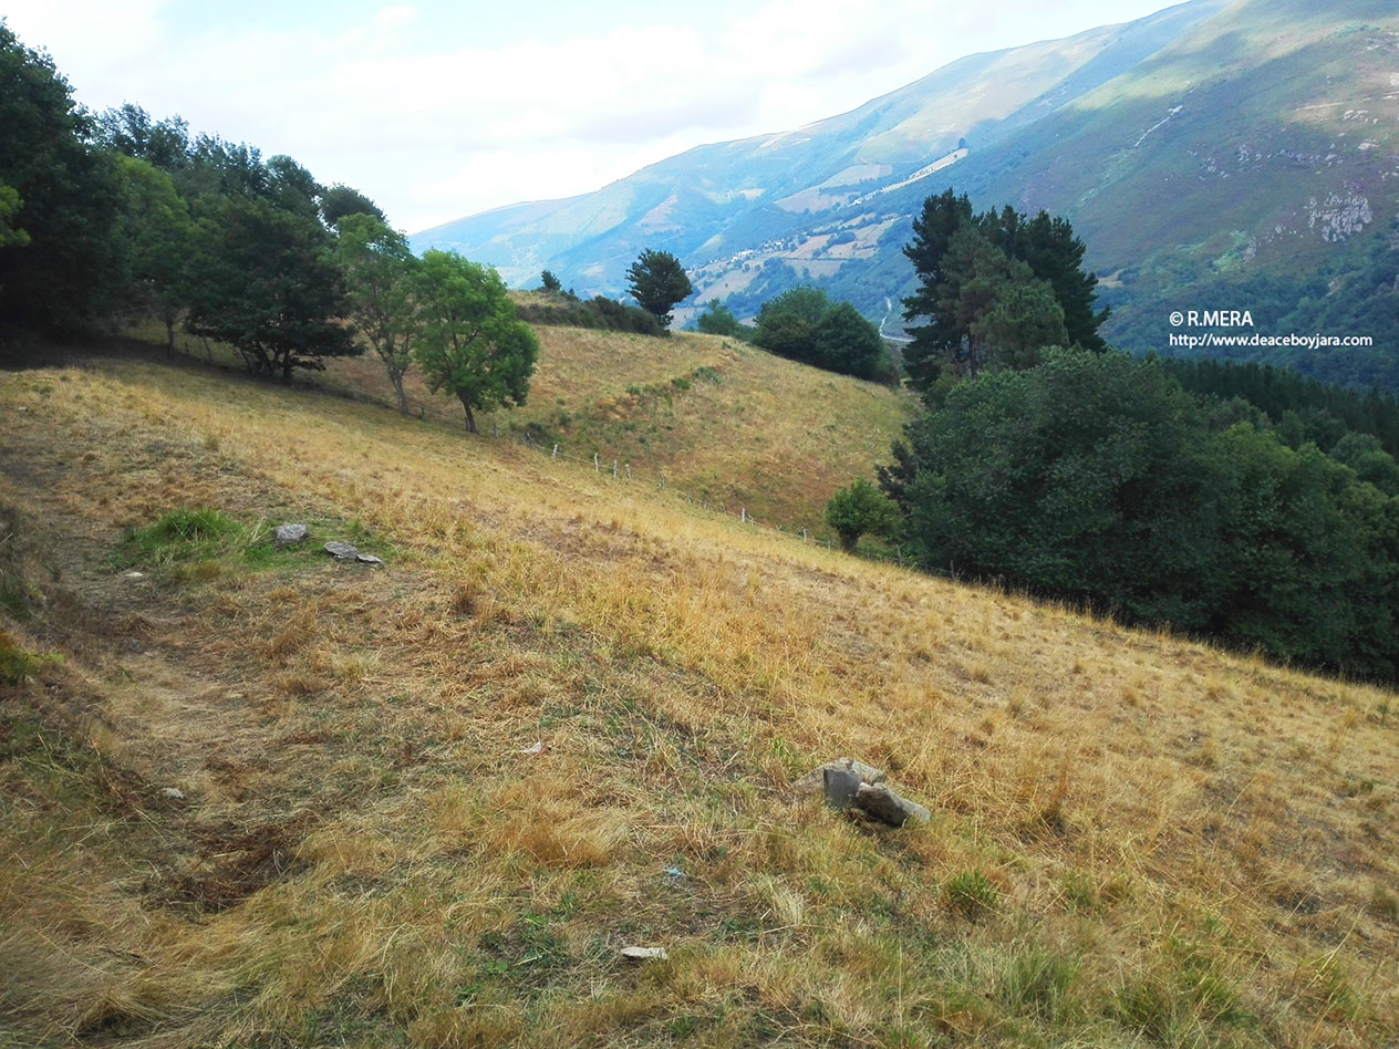
<svg viewBox="0 0 1399 1049">
<path fill-rule="evenodd" d="M 554 269 L 579 292 L 616 292 L 642 246 L 697 264 L 757 249 L 954 154 L 982 148 L 1133 67 L 1224 0 L 1193 0 L 1065 41 L 974 55 L 849 113 L 779 134 L 701 145 L 596 193 L 497 208 L 413 238 L 491 263 L 512 284 Z"/>
</svg>

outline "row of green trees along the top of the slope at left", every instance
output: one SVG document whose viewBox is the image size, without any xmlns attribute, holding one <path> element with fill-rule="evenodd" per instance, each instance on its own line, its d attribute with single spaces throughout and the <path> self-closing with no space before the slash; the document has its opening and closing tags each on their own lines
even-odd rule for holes
<svg viewBox="0 0 1399 1049">
<path fill-rule="evenodd" d="M 523 403 L 539 354 L 494 270 L 410 250 L 358 190 L 136 105 L 92 115 L 0 21 L 0 329 L 158 316 L 290 380 L 372 348 L 476 413 Z"/>
</svg>

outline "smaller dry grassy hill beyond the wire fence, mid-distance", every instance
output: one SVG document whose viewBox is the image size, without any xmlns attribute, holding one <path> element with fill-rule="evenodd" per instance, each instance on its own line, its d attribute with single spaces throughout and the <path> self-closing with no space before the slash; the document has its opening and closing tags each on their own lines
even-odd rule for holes
<svg viewBox="0 0 1399 1049">
<path fill-rule="evenodd" d="M 483 414 L 485 434 L 526 432 L 547 448 L 652 487 L 783 527 L 824 529 L 825 501 L 888 460 L 915 400 L 793 364 L 736 340 L 537 326 L 540 359 L 520 408 Z M 378 358 L 332 361 L 318 383 L 393 401 Z M 462 427 L 462 406 L 410 375 L 414 411 Z"/>
</svg>

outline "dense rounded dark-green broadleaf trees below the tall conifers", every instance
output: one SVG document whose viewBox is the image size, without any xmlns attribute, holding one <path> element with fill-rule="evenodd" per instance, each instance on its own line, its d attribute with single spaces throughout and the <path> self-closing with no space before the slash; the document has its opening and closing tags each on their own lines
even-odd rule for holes
<svg viewBox="0 0 1399 1049">
<path fill-rule="evenodd" d="M 935 394 L 881 471 L 925 564 L 1279 659 L 1399 671 L 1399 498 L 1377 442 L 1346 450 L 1381 484 L 1115 352 L 1051 350 Z"/>
</svg>

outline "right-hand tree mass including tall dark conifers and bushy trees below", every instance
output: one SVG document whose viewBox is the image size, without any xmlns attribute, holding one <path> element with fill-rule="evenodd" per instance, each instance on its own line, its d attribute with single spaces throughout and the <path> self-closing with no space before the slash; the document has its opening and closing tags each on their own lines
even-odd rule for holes
<svg viewBox="0 0 1399 1049">
<path fill-rule="evenodd" d="M 1399 411 L 1098 336 L 1066 220 L 929 197 L 905 248 L 925 411 L 827 520 L 925 566 L 1358 677 L 1399 678 Z"/>
</svg>

